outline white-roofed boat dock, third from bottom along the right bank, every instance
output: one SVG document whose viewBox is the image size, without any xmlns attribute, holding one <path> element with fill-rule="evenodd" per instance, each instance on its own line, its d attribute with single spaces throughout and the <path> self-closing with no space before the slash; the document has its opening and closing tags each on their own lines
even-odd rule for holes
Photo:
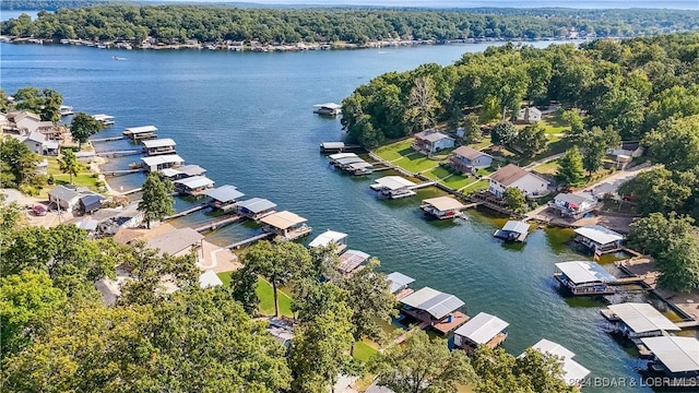
<svg viewBox="0 0 699 393">
<path fill-rule="evenodd" d="M 556 263 L 556 279 L 561 287 L 577 296 L 614 294 L 617 278 L 596 262 L 570 261 Z"/>
</svg>

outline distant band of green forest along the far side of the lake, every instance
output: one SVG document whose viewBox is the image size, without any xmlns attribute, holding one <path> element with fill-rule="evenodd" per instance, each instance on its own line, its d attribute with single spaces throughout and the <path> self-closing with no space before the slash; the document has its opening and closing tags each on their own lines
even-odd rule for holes
<svg viewBox="0 0 699 393">
<path fill-rule="evenodd" d="M 571 31 L 606 36 L 650 35 L 699 28 L 699 12 L 676 10 L 496 10 L 419 9 L 237 9 L 192 5 L 96 5 L 42 12 L 32 22 L 3 22 L 2 34 L 45 39 L 127 39 L 146 36 L 164 43 L 261 43 L 415 39 L 536 39 Z"/>
</svg>

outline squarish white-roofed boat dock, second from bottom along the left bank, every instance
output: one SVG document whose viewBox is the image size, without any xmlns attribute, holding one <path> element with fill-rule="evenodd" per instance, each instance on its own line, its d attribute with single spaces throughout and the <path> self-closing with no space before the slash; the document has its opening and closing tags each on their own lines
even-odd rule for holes
<svg viewBox="0 0 699 393">
<path fill-rule="evenodd" d="M 454 331 L 454 346 L 473 354 L 478 345 L 495 349 L 507 340 L 510 324 L 489 313 L 479 312 Z"/>
</svg>

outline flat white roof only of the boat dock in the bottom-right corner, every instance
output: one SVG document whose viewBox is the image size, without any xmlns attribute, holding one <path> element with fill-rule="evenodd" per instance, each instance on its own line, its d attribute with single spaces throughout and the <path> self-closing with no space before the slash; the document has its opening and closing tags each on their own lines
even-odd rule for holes
<svg viewBox="0 0 699 393">
<path fill-rule="evenodd" d="M 699 370 L 699 340 L 696 337 L 660 336 L 641 338 L 641 342 L 671 372 Z"/>
</svg>

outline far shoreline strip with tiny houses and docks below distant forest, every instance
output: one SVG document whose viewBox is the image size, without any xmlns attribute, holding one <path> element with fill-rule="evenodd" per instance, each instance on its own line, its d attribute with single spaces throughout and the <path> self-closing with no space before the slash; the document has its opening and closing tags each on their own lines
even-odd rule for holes
<svg viewBox="0 0 699 393">
<path fill-rule="evenodd" d="M 134 45 L 132 41 L 94 41 L 87 39 L 54 39 L 54 38 L 34 38 L 34 37 L 17 37 L 9 35 L 0 35 L 0 41 L 7 44 L 37 44 L 37 45 L 72 45 L 72 46 L 85 46 L 97 49 L 149 49 L 149 50 L 213 50 L 213 51 L 236 51 L 236 52 L 280 52 L 280 51 L 313 51 L 313 50 L 351 50 L 351 49 L 381 49 L 381 48 L 399 48 L 399 47 L 413 47 L 420 45 L 453 45 L 453 44 L 496 44 L 496 43 L 544 43 L 544 41 L 571 41 L 582 43 L 591 39 L 629 39 L 633 37 L 542 37 L 536 39 L 531 38 L 460 38 L 460 39 L 388 39 L 388 40 L 371 40 L 366 44 L 353 44 L 353 43 L 295 43 L 295 44 L 262 44 L 257 41 L 232 41 L 224 43 L 199 43 L 194 40 L 186 40 L 182 44 L 162 44 L 157 43 L 155 38 L 149 37 L 141 45 Z M 119 60 L 119 59 L 116 59 Z"/>
</svg>

